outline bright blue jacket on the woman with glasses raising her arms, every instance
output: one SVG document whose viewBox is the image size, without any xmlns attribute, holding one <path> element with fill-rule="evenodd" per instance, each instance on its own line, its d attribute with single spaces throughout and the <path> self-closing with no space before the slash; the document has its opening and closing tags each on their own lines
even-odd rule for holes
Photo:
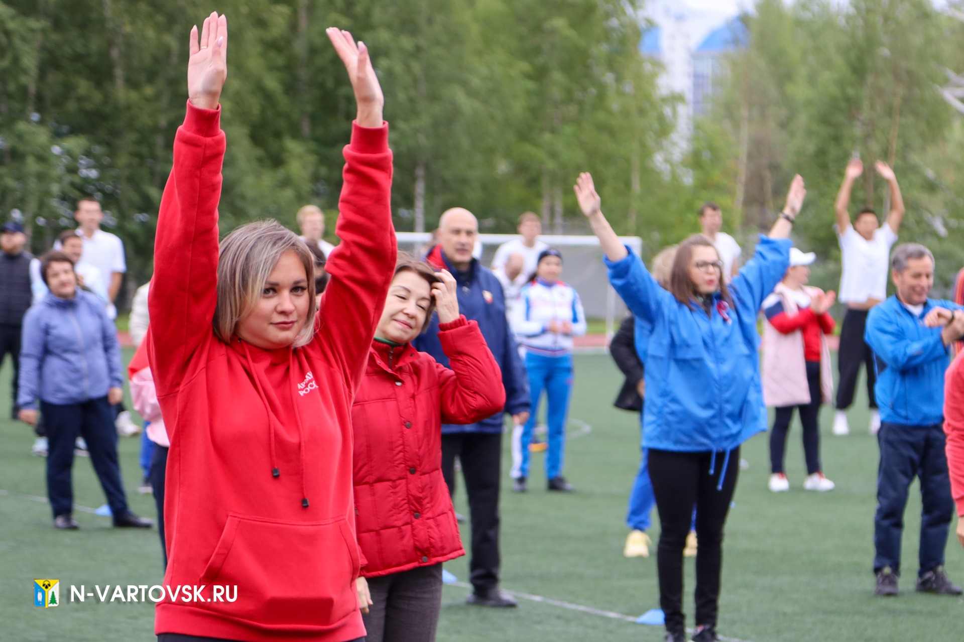
<svg viewBox="0 0 964 642">
<path fill-rule="evenodd" d="M 787 272 L 790 246 L 788 239 L 762 236 L 730 284 L 733 305 L 717 293 L 709 316 L 698 302 L 689 308 L 660 287 L 629 248 L 620 261 L 603 257 L 609 281 L 637 319 L 647 448 L 729 453 L 766 430 L 757 316 Z"/>
</svg>

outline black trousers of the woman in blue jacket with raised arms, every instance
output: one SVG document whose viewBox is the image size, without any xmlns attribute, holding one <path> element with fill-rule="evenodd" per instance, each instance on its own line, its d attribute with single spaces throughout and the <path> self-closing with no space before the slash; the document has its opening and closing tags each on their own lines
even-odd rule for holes
<svg viewBox="0 0 964 642">
<path fill-rule="evenodd" d="M 683 548 L 696 505 L 696 624 L 716 625 L 722 569 L 723 524 L 739 472 L 739 448 L 725 452 L 649 450 L 650 479 L 661 532 L 656 556 L 659 605 L 666 630 L 682 634 Z M 712 470 L 710 472 L 710 470 Z M 720 486 L 720 475 L 723 483 Z"/>
</svg>

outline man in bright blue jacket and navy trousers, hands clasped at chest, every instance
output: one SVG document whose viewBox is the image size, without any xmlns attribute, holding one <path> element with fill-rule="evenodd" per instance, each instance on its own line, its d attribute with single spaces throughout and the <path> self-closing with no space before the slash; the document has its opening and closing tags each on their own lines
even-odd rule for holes
<svg viewBox="0 0 964 642">
<path fill-rule="evenodd" d="M 881 418 L 873 519 L 876 594 L 897 595 L 907 492 L 914 477 L 920 477 L 924 506 L 917 590 L 960 595 L 960 587 L 944 573 L 954 503 L 943 424 L 948 346 L 964 334 L 964 308 L 927 298 L 934 284 L 934 255 L 923 245 L 897 246 L 891 266 L 897 295 L 870 310 L 865 334 L 875 358 Z"/>
</svg>

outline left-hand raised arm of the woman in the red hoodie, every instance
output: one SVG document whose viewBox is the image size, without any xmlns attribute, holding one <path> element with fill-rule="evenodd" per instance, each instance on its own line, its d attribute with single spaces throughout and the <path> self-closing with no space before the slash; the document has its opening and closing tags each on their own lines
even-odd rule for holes
<svg viewBox="0 0 964 642">
<path fill-rule="evenodd" d="M 174 136 L 174 167 L 161 198 L 154 277 L 147 307 L 148 346 L 161 396 L 177 388 L 187 364 L 212 335 L 217 303 L 218 201 L 225 133 L 218 101 L 228 76 L 228 18 L 211 13 L 191 29 L 187 115 Z"/>
</svg>

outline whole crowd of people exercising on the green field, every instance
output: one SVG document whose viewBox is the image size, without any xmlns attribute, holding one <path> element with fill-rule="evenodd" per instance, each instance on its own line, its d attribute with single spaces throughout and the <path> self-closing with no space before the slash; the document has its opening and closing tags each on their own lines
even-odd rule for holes
<svg viewBox="0 0 964 642">
<path fill-rule="evenodd" d="M 499 586 L 506 421 L 513 491 L 528 491 L 532 453 L 543 451 L 547 490 L 576 490 L 563 471 L 573 352 L 587 324 L 576 289 L 561 279 L 563 255 L 539 240 L 540 218 L 526 212 L 518 239 L 485 267 L 478 221 L 462 207 L 442 214 L 424 256 L 398 254 L 385 98 L 365 45 L 327 33 L 358 107 L 343 151 L 337 246 L 323 240 L 314 205 L 297 213 L 301 235 L 261 221 L 221 238 L 227 18 L 212 13 L 191 30 L 186 113 L 160 202 L 153 277 L 132 303 L 136 349 L 126 373 L 114 323 L 123 246 L 100 229 L 100 203 L 79 201 L 78 227 L 40 258 L 25 251 L 20 223 L 0 228 L 0 359 L 13 355 L 12 416 L 35 427 L 34 450 L 46 456 L 54 525 L 79 527 L 78 453 L 90 457 L 115 526 L 153 525 L 130 511 L 120 476 L 118 437 L 141 432 L 123 405 L 126 381 L 145 420 L 141 488 L 157 505 L 164 583 L 244 587 L 236 602 L 166 597 L 156 610 L 160 642 L 433 640 L 442 563 L 466 554 L 452 502 L 457 471 L 469 504 L 467 602 L 480 606 L 516 606 Z M 890 189 L 883 226 L 871 209 L 850 219 L 858 159 L 836 203 L 846 310 L 833 433 L 849 432 L 846 410 L 865 364 L 880 451 L 875 591 L 897 595 L 903 514 L 919 478 L 916 589 L 960 595 L 944 555 L 955 502 L 964 516 L 964 364 L 950 357 L 964 337 L 964 301 L 929 297 L 935 263 L 924 246 L 894 247 L 904 215 L 897 177 L 881 162 L 874 170 Z M 769 490 L 790 490 L 794 410 L 802 487 L 835 488 L 823 473 L 818 417 L 833 402 L 838 296 L 809 284 L 817 256 L 790 242 L 804 181 L 793 178 L 747 260 L 708 202 L 701 233 L 662 249 L 651 269 L 606 221 L 590 174 L 577 177 L 575 192 L 631 312 L 610 346 L 626 376 L 615 405 L 638 413 L 641 426 L 624 554 L 650 555 L 655 507 L 666 640 L 690 639 L 683 557 L 695 556 L 691 639 L 712 642 L 741 446 L 767 429 L 768 408 Z"/>
</svg>

